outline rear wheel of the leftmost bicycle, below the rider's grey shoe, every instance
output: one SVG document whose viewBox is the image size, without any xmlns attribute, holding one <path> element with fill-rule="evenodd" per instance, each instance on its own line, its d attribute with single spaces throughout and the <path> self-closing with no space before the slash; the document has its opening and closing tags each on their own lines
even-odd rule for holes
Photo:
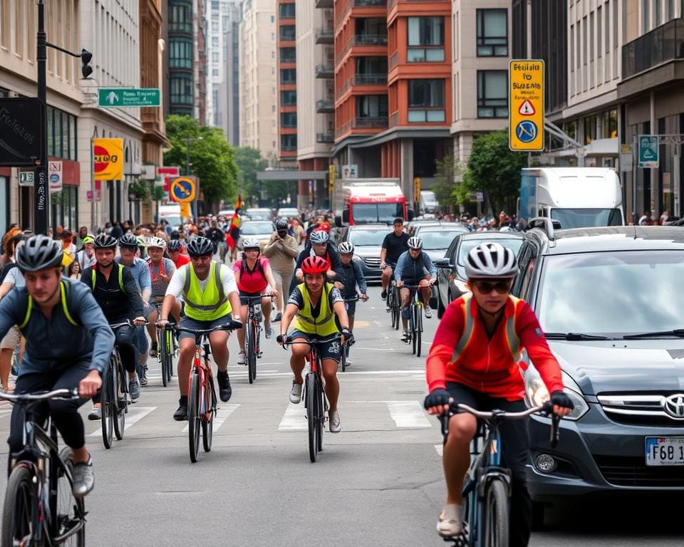
<svg viewBox="0 0 684 547">
<path fill-rule="evenodd" d="M 73 453 L 71 448 L 63 447 L 59 458 L 68 469 L 68 475 L 61 466 L 57 470 L 57 537 L 68 536 L 60 545 L 83 547 L 86 545 L 86 507 L 83 499 L 77 499 L 71 494 L 71 479 L 73 475 Z M 57 543 L 57 542 L 55 542 Z"/>
</svg>

